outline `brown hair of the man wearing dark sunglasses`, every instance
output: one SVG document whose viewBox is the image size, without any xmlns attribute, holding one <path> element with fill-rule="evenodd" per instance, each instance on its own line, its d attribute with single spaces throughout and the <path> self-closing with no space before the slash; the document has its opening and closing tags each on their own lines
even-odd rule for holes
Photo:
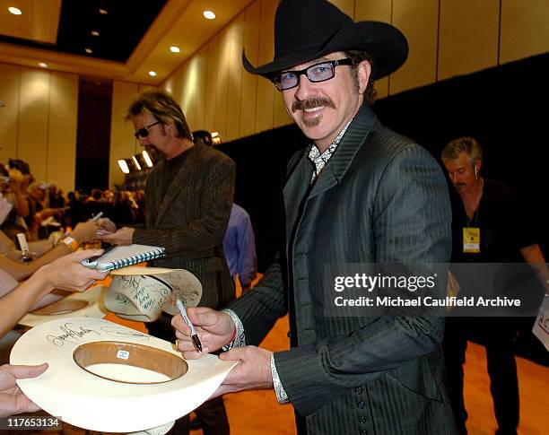
<svg viewBox="0 0 549 435">
<path fill-rule="evenodd" d="M 193 136 L 190 134 L 190 129 L 187 125 L 183 110 L 173 100 L 169 94 L 163 91 L 145 91 L 137 99 L 130 104 L 127 109 L 126 118 L 131 119 L 144 112 L 149 112 L 161 121 L 163 124 L 167 124 L 172 120 L 178 129 L 178 137 L 193 140 Z"/>
</svg>

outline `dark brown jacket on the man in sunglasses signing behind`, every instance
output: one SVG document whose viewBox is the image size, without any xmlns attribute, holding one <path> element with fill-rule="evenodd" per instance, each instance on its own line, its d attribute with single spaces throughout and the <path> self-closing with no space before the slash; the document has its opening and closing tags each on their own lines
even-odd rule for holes
<svg viewBox="0 0 549 435">
<path fill-rule="evenodd" d="M 195 145 L 187 152 L 167 192 L 161 191 L 164 161 L 147 179 L 146 229 L 135 230 L 134 243 L 166 248 L 166 257 L 152 265 L 192 272 L 203 287 L 200 305 L 223 308 L 235 298 L 222 250 L 234 195 L 235 164 L 205 145 Z"/>
</svg>

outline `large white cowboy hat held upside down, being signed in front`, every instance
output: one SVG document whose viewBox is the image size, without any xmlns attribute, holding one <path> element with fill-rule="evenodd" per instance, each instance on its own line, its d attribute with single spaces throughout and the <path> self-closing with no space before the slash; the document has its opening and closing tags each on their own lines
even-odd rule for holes
<svg viewBox="0 0 549 435">
<path fill-rule="evenodd" d="M 25 396 L 50 415 L 90 431 L 164 426 L 202 405 L 236 361 L 205 354 L 186 361 L 172 344 L 99 318 L 52 320 L 26 332 L 11 364 L 41 364 L 18 379 Z"/>
</svg>

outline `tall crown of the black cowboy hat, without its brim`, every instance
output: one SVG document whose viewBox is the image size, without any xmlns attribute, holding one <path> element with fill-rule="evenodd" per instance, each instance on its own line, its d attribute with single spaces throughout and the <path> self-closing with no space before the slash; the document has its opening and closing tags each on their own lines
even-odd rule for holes
<svg viewBox="0 0 549 435">
<path fill-rule="evenodd" d="M 296 51 L 313 55 L 349 24 L 351 17 L 326 0 L 282 0 L 274 17 L 274 59 Z"/>
</svg>

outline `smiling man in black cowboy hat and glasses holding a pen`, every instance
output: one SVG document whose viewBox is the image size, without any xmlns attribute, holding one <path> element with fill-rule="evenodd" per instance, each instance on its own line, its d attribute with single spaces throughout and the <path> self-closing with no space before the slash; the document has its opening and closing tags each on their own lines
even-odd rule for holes
<svg viewBox="0 0 549 435">
<path fill-rule="evenodd" d="M 282 91 L 312 144 L 288 167 L 278 261 L 229 309 L 188 310 L 205 352 L 232 348 L 221 359 L 240 361 L 217 394 L 274 388 L 295 407 L 300 433 L 455 433 L 444 318 L 324 311 L 327 264 L 449 261 L 440 166 L 381 126 L 365 102 L 372 81 L 405 62 L 405 37 L 381 22 L 354 23 L 322 0 L 282 0 L 274 27 L 274 61 L 255 68 L 243 54 L 244 66 Z M 256 347 L 287 312 L 292 348 Z M 184 356 L 199 357 L 184 321 L 172 325 Z"/>
</svg>

